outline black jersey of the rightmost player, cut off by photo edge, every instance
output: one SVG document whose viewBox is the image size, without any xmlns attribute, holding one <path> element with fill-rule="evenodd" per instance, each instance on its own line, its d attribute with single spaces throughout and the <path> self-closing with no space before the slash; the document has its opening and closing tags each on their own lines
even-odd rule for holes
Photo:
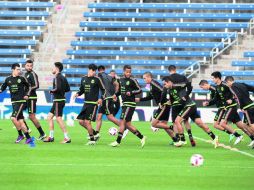
<svg viewBox="0 0 254 190">
<path fill-rule="evenodd" d="M 249 94 L 249 92 L 254 92 L 254 86 L 234 82 L 230 90 L 237 98 L 241 109 L 247 109 L 248 107 L 254 106 Z"/>
</svg>

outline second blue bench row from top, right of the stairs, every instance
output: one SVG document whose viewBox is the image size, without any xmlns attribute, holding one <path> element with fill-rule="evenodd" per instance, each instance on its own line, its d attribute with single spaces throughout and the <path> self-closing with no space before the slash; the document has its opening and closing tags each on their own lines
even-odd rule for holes
<svg viewBox="0 0 254 190">
<path fill-rule="evenodd" d="M 133 13 L 133 12 L 85 12 L 84 17 L 91 18 L 141 18 L 141 19 L 240 19 L 250 20 L 252 13 Z"/>
</svg>

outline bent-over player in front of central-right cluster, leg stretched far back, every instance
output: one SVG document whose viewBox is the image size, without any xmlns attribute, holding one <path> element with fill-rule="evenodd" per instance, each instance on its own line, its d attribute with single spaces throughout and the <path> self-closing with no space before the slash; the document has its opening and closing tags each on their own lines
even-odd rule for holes
<svg viewBox="0 0 254 190">
<path fill-rule="evenodd" d="M 171 102 L 174 102 L 174 101 L 181 102 L 182 95 L 173 88 L 173 79 L 171 79 L 170 76 L 163 78 L 163 84 L 165 88 L 169 89 Z M 209 129 L 209 127 L 206 124 L 204 124 L 203 121 L 201 120 L 200 115 L 197 112 L 196 103 L 193 102 L 189 97 L 186 97 L 186 101 L 184 102 L 184 107 L 175 119 L 176 126 L 178 128 L 181 128 L 181 123 L 184 120 L 187 120 L 188 118 L 191 118 L 193 122 L 195 122 L 200 128 L 202 128 L 212 138 L 214 147 L 216 148 L 219 143 L 218 137 L 215 136 L 214 133 Z M 181 140 L 180 140 L 180 143 L 182 145 L 185 144 Z"/>
</svg>

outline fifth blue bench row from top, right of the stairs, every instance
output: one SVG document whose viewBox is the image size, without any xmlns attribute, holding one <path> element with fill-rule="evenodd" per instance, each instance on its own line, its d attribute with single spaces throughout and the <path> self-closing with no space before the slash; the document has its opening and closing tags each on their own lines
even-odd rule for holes
<svg viewBox="0 0 254 190">
<path fill-rule="evenodd" d="M 218 42 L 123 42 L 123 41 L 72 41 L 72 46 L 92 47 L 154 47 L 154 48 L 223 48 Z"/>
</svg>

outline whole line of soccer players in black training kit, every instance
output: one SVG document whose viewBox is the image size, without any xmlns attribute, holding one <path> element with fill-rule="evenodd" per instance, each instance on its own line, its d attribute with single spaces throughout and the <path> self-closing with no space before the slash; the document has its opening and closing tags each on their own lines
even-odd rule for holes
<svg viewBox="0 0 254 190">
<path fill-rule="evenodd" d="M 32 141 L 29 135 L 30 129 L 23 116 L 23 110 L 27 108 L 29 119 L 40 133 L 39 140 L 54 142 L 53 118 L 56 117 L 56 121 L 64 134 L 62 143 L 71 143 L 71 138 L 62 119 L 66 101 L 65 93 L 70 91 L 67 79 L 61 74 L 63 70 L 62 63 L 54 63 L 52 70 L 55 78 L 53 80 L 53 89 L 50 93 L 53 95 L 54 100 L 48 114 L 49 136 L 47 137 L 35 116 L 36 89 L 39 88 L 39 81 L 33 71 L 33 62 L 31 60 L 26 62 L 25 69 L 25 75 L 21 76 L 20 65 L 13 64 L 11 76 L 6 78 L 0 89 L 0 93 L 7 87 L 10 90 L 13 105 L 11 120 L 18 131 L 18 138 L 15 142 L 19 143 L 24 138 L 26 138 L 25 143 L 27 144 Z M 98 74 L 96 74 L 97 70 Z M 79 91 L 75 95 L 75 98 L 84 95 L 84 104 L 77 120 L 88 132 L 89 141 L 87 145 L 95 145 L 99 140 L 102 116 L 105 114 L 109 121 L 119 127 L 117 139 L 110 146 L 119 146 L 126 132 L 130 131 L 140 139 L 141 147 L 144 147 L 146 136 L 133 126 L 131 122 L 132 116 L 137 102 L 154 99 L 158 109 L 154 113 L 151 125 L 155 128 L 164 129 L 172 138 L 172 145 L 181 147 L 187 144 L 184 134 L 184 129 L 186 128 L 191 145 L 196 146 L 189 123 L 189 119 L 191 119 L 209 135 L 215 148 L 218 146 L 218 136 L 202 121 L 197 111 L 196 103 L 190 98 L 192 92 L 191 82 L 184 75 L 178 74 L 174 65 L 168 67 L 169 75 L 162 79 L 163 84 L 156 81 L 151 72 L 143 74 L 144 81 L 150 86 L 146 97 L 140 97 L 141 87 L 137 80 L 132 78 L 131 71 L 131 66 L 125 65 L 123 67 L 123 76 L 117 78 L 114 71 L 107 74 L 105 67 L 102 65 L 97 67 L 95 64 L 90 64 L 88 66 L 88 73 L 82 77 Z M 203 102 L 203 106 L 215 104 L 218 108 L 214 119 L 214 127 L 228 133 L 230 139 L 236 137 L 234 144 L 238 144 L 242 141 L 243 135 L 234 130 L 228 122 L 236 124 L 239 129 L 250 137 L 251 143 L 249 146 L 253 148 L 254 103 L 249 97 L 249 91 L 254 92 L 254 87 L 234 82 L 234 78 L 231 76 L 226 77 L 225 81 L 222 81 L 220 72 L 213 72 L 211 77 L 215 83 L 214 86 L 210 85 L 207 80 L 201 80 L 199 85 L 202 89 L 211 91 L 210 101 Z M 122 111 L 120 118 L 117 119 L 115 115 L 120 107 L 119 97 L 122 100 Z M 238 106 L 244 112 L 244 122 L 241 121 L 238 115 Z M 170 113 L 173 125 L 168 125 Z M 95 129 L 91 123 L 94 121 L 96 121 Z"/>
</svg>

